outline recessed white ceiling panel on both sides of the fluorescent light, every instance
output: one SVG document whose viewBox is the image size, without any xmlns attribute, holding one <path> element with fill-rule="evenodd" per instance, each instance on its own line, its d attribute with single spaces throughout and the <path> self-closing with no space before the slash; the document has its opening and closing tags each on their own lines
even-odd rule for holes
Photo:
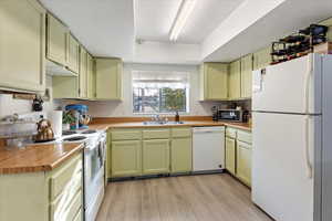
<svg viewBox="0 0 332 221">
<path fill-rule="evenodd" d="M 169 30 L 181 0 L 134 0 L 137 39 L 169 42 Z M 199 44 L 243 0 L 197 0 L 178 43 Z"/>
</svg>

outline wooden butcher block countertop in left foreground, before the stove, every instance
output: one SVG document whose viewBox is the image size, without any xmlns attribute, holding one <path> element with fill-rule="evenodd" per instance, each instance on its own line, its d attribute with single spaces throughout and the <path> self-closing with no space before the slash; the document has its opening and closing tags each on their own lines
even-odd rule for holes
<svg viewBox="0 0 332 221">
<path fill-rule="evenodd" d="M 0 146 L 0 175 L 50 171 L 81 151 L 83 144 L 38 144 L 23 149 Z"/>
</svg>

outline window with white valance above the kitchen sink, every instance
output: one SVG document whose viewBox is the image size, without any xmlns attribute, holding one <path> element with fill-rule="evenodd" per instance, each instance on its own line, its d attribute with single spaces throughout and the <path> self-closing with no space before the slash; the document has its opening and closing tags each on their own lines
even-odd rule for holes
<svg viewBox="0 0 332 221">
<path fill-rule="evenodd" d="M 133 72 L 133 112 L 174 114 L 189 112 L 188 73 Z"/>
</svg>

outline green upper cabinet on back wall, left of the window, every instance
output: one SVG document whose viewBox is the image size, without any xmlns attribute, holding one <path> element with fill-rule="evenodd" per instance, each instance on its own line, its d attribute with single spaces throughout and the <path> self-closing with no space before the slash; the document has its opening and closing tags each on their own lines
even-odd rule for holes
<svg viewBox="0 0 332 221">
<path fill-rule="evenodd" d="M 95 60 L 96 99 L 122 99 L 123 62 L 120 59 Z"/>
</svg>

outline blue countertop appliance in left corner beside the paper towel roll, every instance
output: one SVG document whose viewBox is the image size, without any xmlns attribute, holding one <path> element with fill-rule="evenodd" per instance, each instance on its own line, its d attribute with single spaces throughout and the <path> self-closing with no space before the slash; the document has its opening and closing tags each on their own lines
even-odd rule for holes
<svg viewBox="0 0 332 221">
<path fill-rule="evenodd" d="M 87 106 L 83 104 L 70 104 L 65 106 L 66 112 L 71 112 L 76 119 L 76 124 L 71 126 L 71 129 L 87 129 L 91 116 L 87 115 Z"/>
</svg>

